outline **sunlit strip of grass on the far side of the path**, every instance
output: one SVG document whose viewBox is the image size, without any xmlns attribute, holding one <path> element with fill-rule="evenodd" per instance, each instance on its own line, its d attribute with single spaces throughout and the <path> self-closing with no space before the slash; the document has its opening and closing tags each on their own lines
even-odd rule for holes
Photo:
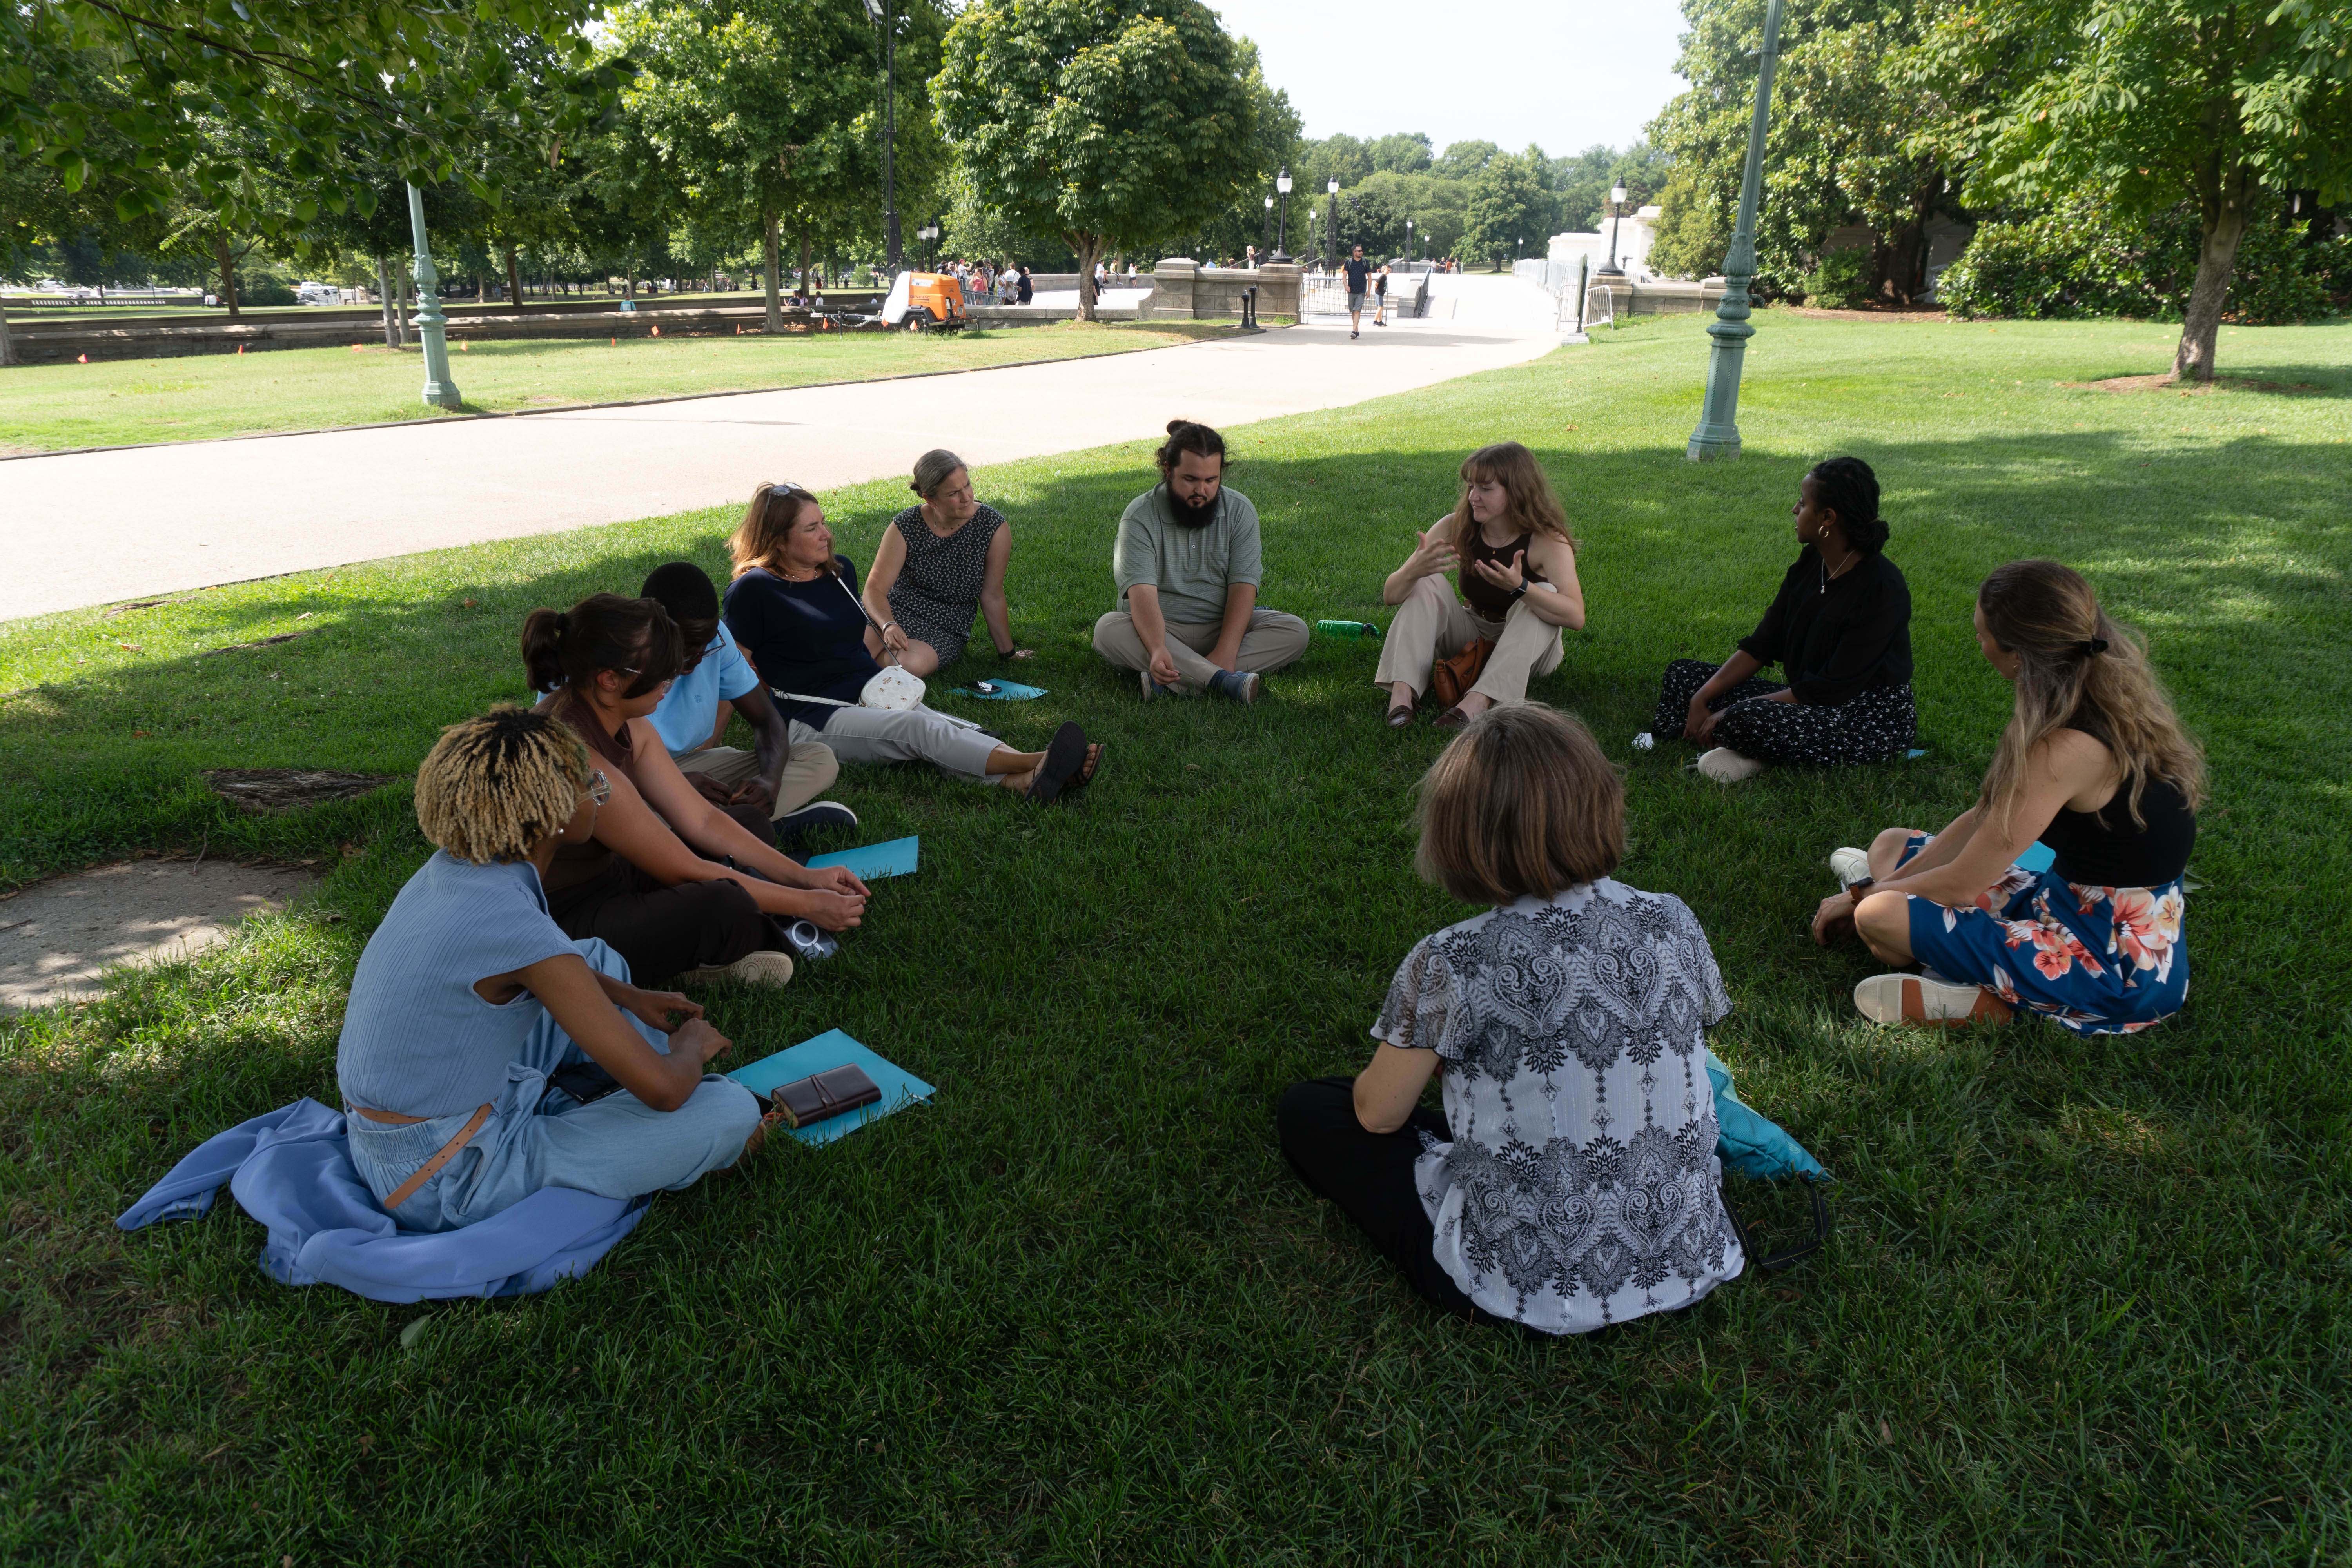
<svg viewBox="0 0 2352 1568">
<path fill-rule="evenodd" d="M 659 317 L 649 320 L 659 324 Z M 452 343 L 449 378 L 466 402 L 449 414 L 419 397 L 426 369 L 414 339 L 395 353 L 383 346 L 381 327 L 355 322 L 350 343 L 336 348 L 14 367 L 0 374 L 0 456 L 880 381 L 1169 348 L 1230 331 L 1225 322 L 1042 322 L 957 334 L 802 331 L 771 339 L 757 331 L 673 331 L 604 343 Z"/>
</svg>

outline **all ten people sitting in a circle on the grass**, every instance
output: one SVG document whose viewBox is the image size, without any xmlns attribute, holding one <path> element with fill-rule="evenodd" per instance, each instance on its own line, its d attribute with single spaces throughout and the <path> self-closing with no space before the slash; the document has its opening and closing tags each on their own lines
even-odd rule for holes
<svg viewBox="0 0 2352 1568">
<path fill-rule="evenodd" d="M 1155 461 L 1110 529 L 1094 649 L 1143 701 L 1258 703 L 1308 623 L 1261 602 L 1265 541 L 1223 435 L 1171 421 Z M 1691 907 L 1613 877 L 1621 771 L 1529 701 L 1588 621 L 1566 508 L 1519 442 L 1458 477 L 1381 583 L 1395 616 L 1371 682 L 1388 726 L 1428 705 L 1458 731 L 1421 783 L 1414 865 L 1484 912 L 1404 954 L 1371 1060 L 1291 1086 L 1275 1131 L 1432 1305 L 1585 1333 L 1745 1267 L 1705 1074 L 1731 999 Z M 757 1150 L 776 1112 L 703 1072 L 727 1039 L 670 987 L 783 985 L 861 926 L 866 884 L 793 853 L 809 827 L 856 825 L 818 799 L 844 766 L 927 764 L 1035 804 L 1103 778 L 1077 722 L 1023 752 L 917 701 L 976 635 L 1007 663 L 1030 649 L 1007 599 L 1014 522 L 953 451 L 927 451 L 910 489 L 861 576 L 816 494 L 760 484 L 724 592 L 670 562 L 633 595 L 532 611 L 536 705 L 466 719 L 423 759 L 416 816 L 440 849 L 369 940 L 336 1056 L 353 1159 L 402 1227 L 473 1225 L 550 1185 L 684 1187 Z M 1816 463 L 1790 517 L 1797 555 L 1755 630 L 1722 663 L 1665 665 L 1637 750 L 1703 748 L 1698 773 L 1724 785 L 1905 757 L 1912 599 L 1877 475 Z M 1877 954 L 1853 992 L 1877 1023 L 2020 1009 L 2147 1030 L 2187 992 L 2201 752 L 2070 567 L 1994 567 L 1971 632 L 2013 686 L 1976 804 L 1835 849 L 1811 936 Z M 724 743 L 734 717 L 750 750 Z M 588 1067 L 604 1088 L 579 1088 Z M 1432 1077 L 1442 1110 L 1421 1103 Z"/>
</svg>

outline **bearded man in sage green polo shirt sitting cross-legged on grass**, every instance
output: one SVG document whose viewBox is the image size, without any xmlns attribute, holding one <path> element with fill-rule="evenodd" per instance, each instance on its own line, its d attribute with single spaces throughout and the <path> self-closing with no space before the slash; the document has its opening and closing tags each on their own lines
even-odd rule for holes
<svg viewBox="0 0 2352 1568">
<path fill-rule="evenodd" d="M 1094 623 L 1094 651 L 1136 670 L 1143 696 L 1214 691 L 1258 701 L 1258 675 L 1298 663 L 1308 623 L 1258 607 L 1258 508 L 1225 489 L 1225 437 L 1169 421 L 1160 484 L 1127 503 L 1110 571 L 1120 604 Z"/>
</svg>

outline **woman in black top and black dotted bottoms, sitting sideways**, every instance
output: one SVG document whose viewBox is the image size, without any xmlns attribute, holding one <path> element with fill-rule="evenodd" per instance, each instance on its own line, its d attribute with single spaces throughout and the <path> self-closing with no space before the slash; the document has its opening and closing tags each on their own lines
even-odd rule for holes
<svg viewBox="0 0 2352 1568">
<path fill-rule="evenodd" d="M 1910 585 L 1884 555 L 1877 475 L 1860 458 L 1818 463 L 1790 512 L 1802 550 L 1764 621 L 1719 665 L 1670 663 L 1637 748 L 1682 736 L 1712 745 L 1698 771 L 1717 783 L 1771 764 L 1886 762 L 1910 750 L 1919 733 Z M 1785 686 L 1755 679 L 1769 665 L 1788 670 Z"/>
</svg>

